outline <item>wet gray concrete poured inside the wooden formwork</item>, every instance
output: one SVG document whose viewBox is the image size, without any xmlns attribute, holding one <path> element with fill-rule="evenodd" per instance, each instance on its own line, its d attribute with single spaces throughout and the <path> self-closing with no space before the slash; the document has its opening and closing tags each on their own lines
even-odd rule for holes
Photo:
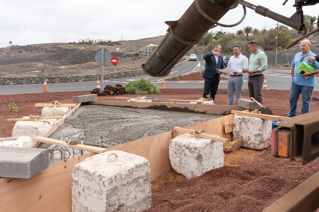
<svg viewBox="0 0 319 212">
<path fill-rule="evenodd" d="M 69 117 L 50 138 L 70 138 L 81 140 L 84 132 L 84 144 L 100 146 L 101 135 L 103 147 L 119 145 L 140 138 L 173 130 L 174 126 L 185 127 L 222 115 L 186 113 L 165 110 L 132 109 L 102 105 L 84 105 Z M 62 160 L 60 146 L 41 143 L 40 148 L 50 149 L 50 163 Z M 80 155 L 80 150 L 68 148 L 67 158 Z M 65 150 L 65 149 L 64 149 Z M 88 153 L 83 151 L 83 153 Z"/>
</svg>

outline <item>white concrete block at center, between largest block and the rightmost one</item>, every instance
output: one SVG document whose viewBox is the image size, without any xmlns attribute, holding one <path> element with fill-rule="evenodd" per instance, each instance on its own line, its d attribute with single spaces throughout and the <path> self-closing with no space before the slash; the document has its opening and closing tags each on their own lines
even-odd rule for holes
<svg viewBox="0 0 319 212">
<path fill-rule="evenodd" d="M 168 153 L 175 172 L 187 179 L 224 166 L 223 143 L 189 134 L 170 140 Z"/>
</svg>

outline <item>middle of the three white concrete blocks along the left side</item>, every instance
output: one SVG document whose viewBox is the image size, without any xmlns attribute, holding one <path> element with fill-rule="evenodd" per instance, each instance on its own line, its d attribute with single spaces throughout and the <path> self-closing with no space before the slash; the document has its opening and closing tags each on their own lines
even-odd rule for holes
<svg viewBox="0 0 319 212">
<path fill-rule="evenodd" d="M 28 116 L 23 117 L 28 118 Z M 46 133 L 57 119 L 43 119 L 37 121 L 17 121 L 12 130 L 12 137 L 29 136 L 31 138 L 42 136 Z M 32 144 L 35 141 L 32 140 Z"/>
</svg>

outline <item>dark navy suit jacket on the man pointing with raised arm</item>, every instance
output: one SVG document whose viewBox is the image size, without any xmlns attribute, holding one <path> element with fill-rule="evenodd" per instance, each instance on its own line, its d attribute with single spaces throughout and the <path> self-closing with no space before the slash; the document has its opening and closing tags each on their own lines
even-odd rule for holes
<svg viewBox="0 0 319 212">
<path fill-rule="evenodd" d="M 205 60 L 205 71 L 203 74 L 204 78 L 214 78 L 215 74 L 218 75 L 218 79 L 220 80 L 220 74 L 218 74 L 218 71 L 216 70 L 216 68 L 218 69 L 224 69 L 224 60 L 222 56 L 218 57 L 218 62 L 216 63 L 216 59 L 215 56 L 213 54 L 213 52 L 206 52 L 204 54 L 204 60 Z M 217 71 L 217 72 L 216 72 Z"/>
</svg>

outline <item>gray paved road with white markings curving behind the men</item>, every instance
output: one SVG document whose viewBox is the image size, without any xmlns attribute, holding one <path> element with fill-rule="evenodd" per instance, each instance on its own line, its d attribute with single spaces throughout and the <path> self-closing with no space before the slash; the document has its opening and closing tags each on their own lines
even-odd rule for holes
<svg viewBox="0 0 319 212">
<path fill-rule="evenodd" d="M 200 65 L 199 65 L 200 64 Z M 199 61 L 188 61 L 185 60 L 177 64 L 171 71 L 171 73 L 165 77 L 171 77 L 181 74 L 189 74 L 193 72 L 204 71 L 205 62 Z M 290 70 L 279 70 L 279 69 L 267 69 L 265 72 L 266 82 L 268 89 L 279 89 L 279 90 L 290 90 L 291 76 L 288 75 Z M 224 75 L 224 74 L 223 74 Z M 229 74 L 224 75 L 226 77 Z M 145 75 L 149 81 L 155 83 L 158 87 L 161 87 L 161 78 L 152 77 Z M 105 80 L 104 85 L 113 85 L 120 83 L 125 85 L 125 83 L 138 80 L 141 76 L 116 79 L 116 80 Z M 319 84 L 319 78 L 316 78 L 316 83 Z M 204 81 L 165 81 L 166 88 L 204 88 Z M 96 88 L 96 81 L 91 82 L 73 82 L 73 83 L 56 83 L 48 84 L 48 91 L 78 91 L 78 90 L 92 90 Z M 227 88 L 227 81 L 220 81 L 218 88 Z M 243 85 L 244 89 L 248 89 L 248 74 L 245 74 L 245 81 Z M 43 85 L 10 85 L 10 86 L 0 86 L 0 94 L 18 94 L 18 93 L 38 93 L 42 92 Z M 319 91 L 319 86 L 314 88 L 315 91 Z"/>
</svg>

